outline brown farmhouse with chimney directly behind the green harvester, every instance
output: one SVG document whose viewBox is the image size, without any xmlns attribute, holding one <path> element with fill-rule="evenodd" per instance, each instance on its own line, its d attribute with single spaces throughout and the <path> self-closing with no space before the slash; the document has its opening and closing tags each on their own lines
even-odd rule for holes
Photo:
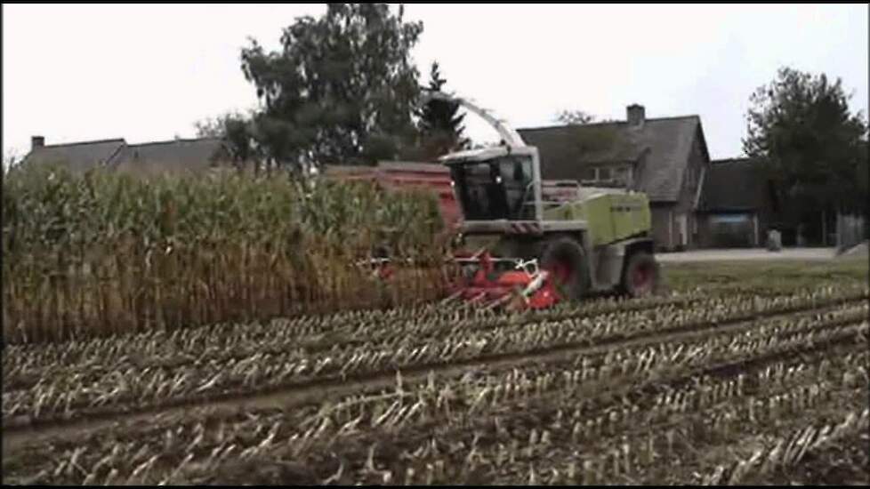
<svg viewBox="0 0 870 489">
<path fill-rule="evenodd" d="M 659 250 L 701 244 L 698 204 L 710 156 L 700 117 L 647 118 L 642 106 L 632 105 L 625 121 L 519 132 L 538 148 L 544 179 L 645 192 Z"/>
</svg>

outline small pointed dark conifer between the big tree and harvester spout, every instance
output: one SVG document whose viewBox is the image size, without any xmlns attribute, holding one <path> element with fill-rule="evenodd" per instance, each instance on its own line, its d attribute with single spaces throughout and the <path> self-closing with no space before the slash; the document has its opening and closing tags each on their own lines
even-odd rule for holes
<svg viewBox="0 0 870 489">
<path fill-rule="evenodd" d="M 447 80 L 441 77 L 438 61 L 434 61 L 429 73 L 431 91 L 441 92 Z M 467 148 L 470 140 L 463 137 L 465 114 L 459 113 L 459 104 L 445 100 L 429 100 L 418 112 L 423 148 L 429 157 L 444 155 L 450 151 Z"/>
</svg>

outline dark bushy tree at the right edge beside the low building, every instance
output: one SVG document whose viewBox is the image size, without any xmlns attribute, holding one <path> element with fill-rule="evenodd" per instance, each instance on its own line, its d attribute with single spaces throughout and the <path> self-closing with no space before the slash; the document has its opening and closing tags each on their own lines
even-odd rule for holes
<svg viewBox="0 0 870 489">
<path fill-rule="evenodd" d="M 779 189 L 784 219 L 820 236 L 819 215 L 866 212 L 864 116 L 851 113 L 850 96 L 838 78 L 780 68 L 777 78 L 750 98 L 748 156 L 764 162 Z M 863 148 L 862 148 L 863 146 Z"/>
</svg>

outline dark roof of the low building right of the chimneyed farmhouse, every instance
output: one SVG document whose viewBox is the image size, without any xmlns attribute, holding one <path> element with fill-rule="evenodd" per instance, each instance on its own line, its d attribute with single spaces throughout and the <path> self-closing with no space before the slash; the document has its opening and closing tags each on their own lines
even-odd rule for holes
<svg viewBox="0 0 870 489">
<path fill-rule="evenodd" d="M 761 165 L 750 158 L 713 161 L 701 191 L 701 209 L 707 212 L 754 211 L 763 205 L 765 179 Z"/>
</svg>

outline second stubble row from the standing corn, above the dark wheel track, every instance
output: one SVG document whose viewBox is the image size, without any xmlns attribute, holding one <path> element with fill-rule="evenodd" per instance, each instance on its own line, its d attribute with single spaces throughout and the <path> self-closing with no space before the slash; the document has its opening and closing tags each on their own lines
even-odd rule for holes
<svg viewBox="0 0 870 489">
<path fill-rule="evenodd" d="M 706 334 L 716 334 L 717 324 L 807 307 L 815 310 L 813 308 L 818 306 L 833 306 L 834 309 L 750 326 L 758 329 L 765 324 L 785 323 L 793 331 L 802 325 L 848 324 L 866 317 L 866 303 L 841 303 L 843 297 L 846 296 L 832 294 L 824 299 L 816 295 L 794 295 L 752 301 L 713 300 L 692 309 L 666 305 L 598 317 L 567 316 L 561 320 L 517 322 L 495 328 L 459 328 L 431 337 L 417 324 L 409 330 L 399 328 L 393 336 L 381 341 L 336 344 L 331 349 L 313 352 L 294 348 L 292 342 L 283 350 L 273 351 L 257 351 L 255 347 L 242 344 L 232 349 L 248 350 L 247 354 L 228 356 L 212 350 L 211 354 L 200 351 L 200 356 L 194 357 L 182 349 L 170 353 L 171 357 L 150 359 L 144 365 L 121 357 L 117 363 L 107 359 L 104 364 L 90 362 L 53 368 L 42 365 L 43 368 L 38 369 L 38 365 L 27 361 L 26 355 L 10 355 L 4 358 L 4 361 L 9 358 L 9 364 L 4 365 L 3 419 L 4 422 L 22 416 L 28 420 L 68 419 L 89 412 L 135 411 L 180 400 L 288 389 L 312 381 L 337 381 L 421 365 L 448 366 L 507 354 L 521 356 L 567 345 L 583 347 L 644 337 L 656 341 L 659 333 L 686 327 L 706 328 Z M 254 345 L 276 346 L 275 341 L 262 343 L 260 340 L 262 338 Z M 35 371 L 36 378 L 33 377 Z"/>
</svg>

